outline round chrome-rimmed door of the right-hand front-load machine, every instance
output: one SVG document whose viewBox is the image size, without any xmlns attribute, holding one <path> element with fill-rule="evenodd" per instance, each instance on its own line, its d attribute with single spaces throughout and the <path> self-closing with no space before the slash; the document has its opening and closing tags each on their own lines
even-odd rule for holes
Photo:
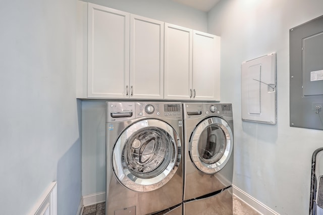
<svg viewBox="0 0 323 215">
<path fill-rule="evenodd" d="M 229 124 L 219 117 L 203 120 L 194 129 L 189 154 L 195 167 L 205 174 L 219 172 L 227 164 L 233 149 Z"/>
</svg>

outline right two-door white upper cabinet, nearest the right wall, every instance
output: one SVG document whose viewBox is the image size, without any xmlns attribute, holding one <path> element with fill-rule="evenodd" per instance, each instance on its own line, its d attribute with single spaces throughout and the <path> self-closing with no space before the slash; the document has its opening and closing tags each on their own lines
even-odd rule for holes
<svg viewBox="0 0 323 215">
<path fill-rule="evenodd" d="M 220 37 L 165 24 L 167 99 L 220 100 Z"/>
</svg>

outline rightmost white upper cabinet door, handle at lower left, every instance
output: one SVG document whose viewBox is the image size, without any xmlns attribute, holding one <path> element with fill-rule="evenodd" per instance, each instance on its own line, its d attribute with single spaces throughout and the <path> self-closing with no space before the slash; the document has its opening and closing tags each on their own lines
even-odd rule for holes
<svg viewBox="0 0 323 215">
<path fill-rule="evenodd" d="M 220 37 L 193 31 L 193 97 L 220 100 Z"/>
</svg>

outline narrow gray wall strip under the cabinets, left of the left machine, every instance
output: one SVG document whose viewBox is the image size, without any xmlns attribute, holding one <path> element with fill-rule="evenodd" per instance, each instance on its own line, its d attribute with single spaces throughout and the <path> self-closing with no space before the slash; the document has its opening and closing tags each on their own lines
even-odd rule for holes
<svg viewBox="0 0 323 215">
<path fill-rule="evenodd" d="M 82 101 L 82 194 L 105 192 L 105 100 Z"/>
</svg>

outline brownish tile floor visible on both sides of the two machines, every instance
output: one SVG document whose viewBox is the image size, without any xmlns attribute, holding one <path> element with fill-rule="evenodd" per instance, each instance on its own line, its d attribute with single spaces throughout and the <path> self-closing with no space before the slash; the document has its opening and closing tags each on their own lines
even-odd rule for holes
<svg viewBox="0 0 323 215">
<path fill-rule="evenodd" d="M 253 210 L 249 205 L 233 196 L 233 215 L 261 215 Z M 105 215 L 105 202 L 86 206 L 82 215 Z"/>
</svg>

